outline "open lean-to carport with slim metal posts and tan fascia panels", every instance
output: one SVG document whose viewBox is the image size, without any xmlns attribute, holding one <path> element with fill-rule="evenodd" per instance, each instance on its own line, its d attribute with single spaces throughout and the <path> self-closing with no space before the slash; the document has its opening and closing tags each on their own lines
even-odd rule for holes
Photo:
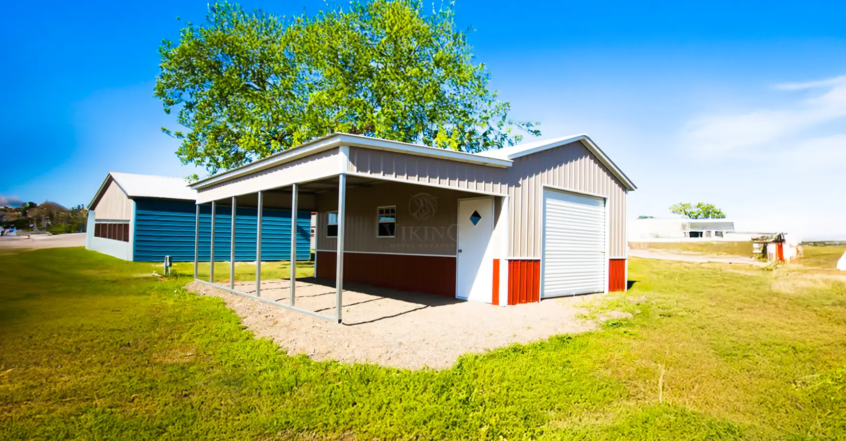
<svg viewBox="0 0 846 441">
<path fill-rule="evenodd" d="M 275 201 L 281 197 L 289 198 L 292 213 L 299 210 L 316 210 L 317 193 L 338 192 L 337 239 L 332 260 L 335 273 L 334 315 L 320 311 L 310 311 L 297 306 L 296 298 L 296 244 L 291 244 L 291 265 L 289 278 L 289 299 L 277 301 L 261 295 L 261 230 L 256 233 L 256 282 L 255 294 L 235 289 L 234 264 L 229 267 L 228 287 L 214 284 L 214 275 L 209 280 L 197 278 L 195 258 L 195 278 L 198 282 L 224 289 L 235 295 L 241 295 L 282 308 L 303 312 L 314 317 L 342 322 L 343 306 L 343 270 L 344 246 L 347 232 L 347 189 L 354 186 L 372 185 L 376 181 L 404 183 L 448 189 L 455 193 L 468 193 L 471 196 L 489 196 L 493 204 L 498 196 L 500 206 L 507 199 L 503 182 L 504 174 L 510 161 L 479 157 L 464 152 L 453 152 L 426 146 L 416 146 L 395 141 L 379 140 L 357 135 L 334 134 L 310 141 L 302 146 L 266 157 L 261 161 L 236 168 L 192 185 L 197 190 L 197 217 L 195 219 L 195 256 L 200 255 L 200 206 L 211 204 L 212 212 L 222 204 L 233 207 L 231 219 L 235 223 L 238 207 L 255 207 L 259 213 L 266 207 L 268 196 Z M 312 197 L 312 202 L 303 203 L 305 196 Z M 288 205 L 288 203 L 286 203 Z M 292 214 L 292 217 L 294 214 Z M 215 216 L 211 217 L 216 219 Z M 292 220 L 293 222 L 293 220 Z M 454 218 L 450 219 L 454 223 Z M 258 223 L 261 225 L 261 223 Z M 221 228 L 218 222 L 212 222 L 212 229 Z M 230 226 L 231 228 L 231 226 Z M 507 234 L 502 237 L 507 243 Z M 215 234 L 211 234 L 211 248 L 215 246 Z M 229 244 L 234 249 L 233 244 Z M 503 246 L 504 248 L 504 246 Z M 460 251 L 459 251 L 460 252 Z M 400 252 L 400 255 L 413 256 Z M 211 252 L 213 259 L 214 252 Z M 453 258 L 454 251 L 453 251 Z M 230 259 L 232 261 L 232 259 Z M 321 258 L 317 258 L 318 264 Z M 211 267 L 214 267 L 213 260 Z M 454 297 L 454 293 L 453 293 Z"/>
</svg>

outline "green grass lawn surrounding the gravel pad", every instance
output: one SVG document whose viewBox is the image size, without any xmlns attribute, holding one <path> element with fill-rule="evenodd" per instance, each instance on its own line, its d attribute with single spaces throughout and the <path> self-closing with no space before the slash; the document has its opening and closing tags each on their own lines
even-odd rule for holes
<svg viewBox="0 0 846 441">
<path fill-rule="evenodd" d="M 807 271 L 635 259 L 594 306 L 634 318 L 440 372 L 287 356 L 150 273 L 0 256 L 0 438 L 846 437 L 846 286 Z"/>
</svg>

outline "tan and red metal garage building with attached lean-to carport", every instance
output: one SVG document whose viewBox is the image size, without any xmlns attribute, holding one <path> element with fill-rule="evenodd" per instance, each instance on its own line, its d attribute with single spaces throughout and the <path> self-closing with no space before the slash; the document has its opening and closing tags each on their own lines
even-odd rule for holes
<svg viewBox="0 0 846 441">
<path fill-rule="evenodd" d="M 587 135 L 470 154 L 333 134 L 191 187 L 197 212 L 268 192 L 317 212 L 316 277 L 336 280 L 337 305 L 343 281 L 502 306 L 626 286 L 636 187 Z M 299 310 L 259 282 L 229 290 Z"/>
</svg>

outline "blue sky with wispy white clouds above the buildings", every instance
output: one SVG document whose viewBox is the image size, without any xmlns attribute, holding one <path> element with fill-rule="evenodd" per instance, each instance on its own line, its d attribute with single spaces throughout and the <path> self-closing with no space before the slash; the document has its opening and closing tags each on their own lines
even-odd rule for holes
<svg viewBox="0 0 846 441">
<path fill-rule="evenodd" d="M 846 238 L 846 4 L 470 2 L 457 19 L 543 137 L 587 133 L 640 188 L 629 215 L 709 201 L 739 228 Z M 244 2 L 275 14 L 324 2 Z M 152 96 L 162 38 L 206 2 L 11 3 L 0 195 L 88 203 L 108 171 L 185 176 Z"/>
</svg>

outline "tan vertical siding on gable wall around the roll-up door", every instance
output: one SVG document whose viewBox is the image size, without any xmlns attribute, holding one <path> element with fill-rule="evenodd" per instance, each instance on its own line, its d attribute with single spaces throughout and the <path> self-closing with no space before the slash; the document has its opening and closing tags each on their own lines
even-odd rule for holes
<svg viewBox="0 0 846 441">
<path fill-rule="evenodd" d="M 609 258 L 626 256 L 626 190 L 580 141 L 514 159 L 509 169 L 511 253 L 541 257 L 543 185 L 607 197 Z"/>
</svg>

